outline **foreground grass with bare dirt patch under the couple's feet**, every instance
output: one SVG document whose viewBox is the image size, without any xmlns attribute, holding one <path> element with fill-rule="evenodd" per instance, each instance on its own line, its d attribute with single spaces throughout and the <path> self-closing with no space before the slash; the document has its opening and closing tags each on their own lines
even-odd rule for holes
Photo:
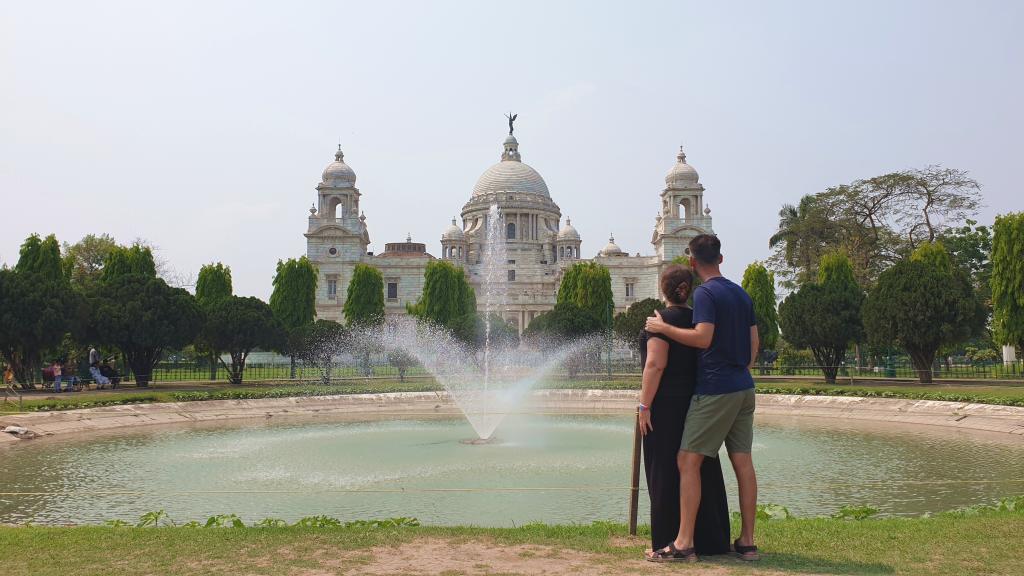
<svg viewBox="0 0 1024 576">
<path fill-rule="evenodd" d="M 735 528 L 735 527 L 734 527 Z M 641 527 L 642 531 L 643 527 Z M 764 559 L 641 560 L 626 527 L 0 528 L 0 572 L 86 574 L 1021 574 L 1021 512 L 761 522 Z"/>
</svg>

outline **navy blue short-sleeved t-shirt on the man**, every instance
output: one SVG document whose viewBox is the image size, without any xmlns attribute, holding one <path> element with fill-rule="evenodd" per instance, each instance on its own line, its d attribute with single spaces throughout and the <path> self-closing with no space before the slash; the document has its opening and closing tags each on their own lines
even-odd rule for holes
<svg viewBox="0 0 1024 576">
<path fill-rule="evenodd" d="M 751 326 L 757 325 L 754 300 L 735 283 L 717 276 L 693 291 L 693 324 L 715 325 L 711 346 L 697 362 L 696 394 L 729 394 L 754 387 Z"/>
</svg>

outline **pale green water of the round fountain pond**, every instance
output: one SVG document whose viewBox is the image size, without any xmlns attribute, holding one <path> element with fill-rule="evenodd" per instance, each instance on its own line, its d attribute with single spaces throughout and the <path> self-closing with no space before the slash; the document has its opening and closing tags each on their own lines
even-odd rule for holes
<svg viewBox="0 0 1024 576">
<path fill-rule="evenodd" d="M 461 419 L 321 418 L 27 441 L 0 449 L 3 491 L 43 494 L 0 496 L 0 523 L 135 521 L 161 508 L 178 522 L 215 513 L 478 526 L 627 519 L 630 418 L 517 416 L 493 444 L 463 444 L 471 435 Z M 800 516 L 844 504 L 899 516 L 989 503 L 1024 493 L 1024 441 L 1008 437 L 761 416 L 761 501 Z M 724 467 L 735 509 L 735 481 Z"/>
</svg>

